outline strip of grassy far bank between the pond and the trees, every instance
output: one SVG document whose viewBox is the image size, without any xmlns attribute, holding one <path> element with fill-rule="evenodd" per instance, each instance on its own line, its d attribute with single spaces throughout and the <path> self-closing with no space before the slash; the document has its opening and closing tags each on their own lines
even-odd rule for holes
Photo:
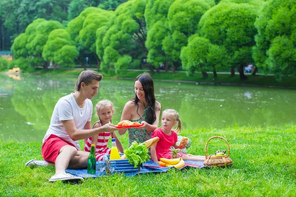
<svg viewBox="0 0 296 197">
<path fill-rule="evenodd" d="M 35 71 L 33 74 L 43 74 L 43 75 L 75 75 L 78 76 L 83 69 L 50 69 L 45 71 L 43 69 Z M 104 73 L 101 72 L 105 77 L 114 78 L 132 78 L 134 79 L 143 71 L 122 71 L 117 76 L 114 73 Z M 192 76 L 187 76 L 185 72 L 176 72 L 172 74 L 171 72 L 161 72 L 160 74 L 155 73 L 152 75 L 153 79 L 156 80 L 175 80 L 175 81 L 186 81 L 186 82 L 198 82 L 205 84 L 222 84 L 222 85 L 247 85 L 247 86 L 279 86 L 279 87 L 295 87 L 296 88 L 296 77 L 287 77 L 281 81 L 276 80 L 275 76 L 265 76 L 265 75 L 247 75 L 249 79 L 241 81 L 239 75 L 230 77 L 229 74 L 218 74 L 218 78 L 213 78 L 213 73 L 209 74 L 208 78 L 203 78 L 201 73 L 194 73 Z"/>
</svg>

